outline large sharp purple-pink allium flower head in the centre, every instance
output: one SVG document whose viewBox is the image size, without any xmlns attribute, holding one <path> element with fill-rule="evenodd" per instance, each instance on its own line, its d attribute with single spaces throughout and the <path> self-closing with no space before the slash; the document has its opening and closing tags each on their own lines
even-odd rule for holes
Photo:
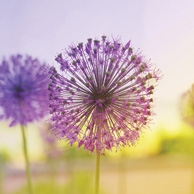
<svg viewBox="0 0 194 194">
<path fill-rule="evenodd" d="M 151 120 L 158 70 L 130 41 L 88 39 L 71 45 L 50 69 L 52 130 L 91 152 L 133 145 Z"/>
</svg>

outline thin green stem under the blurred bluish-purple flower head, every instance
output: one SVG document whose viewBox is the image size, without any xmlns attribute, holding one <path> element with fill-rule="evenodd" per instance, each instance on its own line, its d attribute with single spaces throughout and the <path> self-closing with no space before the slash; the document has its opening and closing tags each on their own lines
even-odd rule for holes
<svg viewBox="0 0 194 194">
<path fill-rule="evenodd" d="M 23 153 L 24 153 L 25 163 L 26 163 L 26 176 L 27 176 L 27 181 L 28 181 L 28 193 L 33 194 L 32 184 L 31 184 L 30 165 L 29 165 L 28 152 L 27 152 L 26 135 L 25 135 L 25 130 L 24 130 L 23 125 L 21 125 L 21 131 L 22 131 L 22 140 L 23 140 Z"/>
</svg>

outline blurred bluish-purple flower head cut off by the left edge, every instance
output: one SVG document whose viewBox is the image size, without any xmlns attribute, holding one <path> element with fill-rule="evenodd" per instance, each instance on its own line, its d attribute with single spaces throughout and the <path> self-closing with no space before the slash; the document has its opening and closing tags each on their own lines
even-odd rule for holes
<svg viewBox="0 0 194 194">
<path fill-rule="evenodd" d="M 49 76 L 45 64 L 30 56 L 11 56 L 0 63 L 1 119 L 26 125 L 47 113 Z"/>
</svg>

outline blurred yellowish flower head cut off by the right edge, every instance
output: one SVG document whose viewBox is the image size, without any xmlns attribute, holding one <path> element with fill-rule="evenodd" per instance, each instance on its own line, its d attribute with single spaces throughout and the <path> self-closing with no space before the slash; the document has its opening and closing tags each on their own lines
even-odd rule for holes
<svg viewBox="0 0 194 194">
<path fill-rule="evenodd" d="M 194 126 L 194 84 L 181 97 L 181 115 L 184 121 Z"/>
</svg>

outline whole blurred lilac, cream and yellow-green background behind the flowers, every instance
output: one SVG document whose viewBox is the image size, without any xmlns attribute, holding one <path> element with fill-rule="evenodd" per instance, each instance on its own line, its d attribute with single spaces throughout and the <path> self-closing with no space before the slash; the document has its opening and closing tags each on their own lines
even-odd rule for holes
<svg viewBox="0 0 194 194">
<path fill-rule="evenodd" d="M 192 193 L 194 129 L 181 117 L 181 101 L 194 83 L 194 1 L 0 0 L 1 60 L 21 53 L 54 65 L 55 56 L 71 43 L 101 35 L 131 40 L 163 74 L 155 93 L 156 116 L 150 129 L 135 147 L 103 158 L 102 190 L 112 194 Z M 65 193 L 87 194 L 84 189 L 93 177 L 94 156 L 62 141 L 50 148 L 40 133 L 43 126 L 35 123 L 27 129 L 39 193 L 44 194 L 41 189 L 48 187 L 44 181 L 53 169 L 51 177 L 57 177 L 55 184 L 60 183 Z M 59 150 L 58 155 L 48 154 L 52 148 Z M 48 164 L 49 158 L 54 164 Z M 9 128 L 5 121 L 0 122 L 0 161 L 1 192 L 25 193 L 20 129 Z M 91 194 L 92 187 L 88 190 Z"/>
</svg>

